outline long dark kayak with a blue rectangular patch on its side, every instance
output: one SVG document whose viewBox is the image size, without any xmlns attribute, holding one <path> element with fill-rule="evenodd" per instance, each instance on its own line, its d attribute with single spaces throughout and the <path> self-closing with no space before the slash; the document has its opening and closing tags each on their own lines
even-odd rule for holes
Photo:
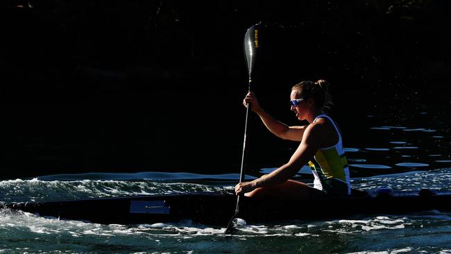
<svg viewBox="0 0 451 254">
<path fill-rule="evenodd" d="M 230 192 L 201 192 L 89 198 L 83 200 L 3 203 L 0 208 L 22 210 L 42 217 L 103 224 L 142 224 L 191 220 L 226 226 L 235 214 L 237 196 Z M 451 193 L 421 189 L 417 193 L 377 194 L 353 189 L 347 197 L 317 197 L 303 201 L 243 196 L 237 217 L 248 223 L 287 219 L 345 219 L 357 214 L 409 214 L 450 211 Z"/>
</svg>

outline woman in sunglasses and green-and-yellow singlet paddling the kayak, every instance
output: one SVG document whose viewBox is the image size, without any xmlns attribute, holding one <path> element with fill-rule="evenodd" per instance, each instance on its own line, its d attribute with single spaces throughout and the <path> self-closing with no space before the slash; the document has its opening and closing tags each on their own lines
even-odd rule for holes
<svg viewBox="0 0 451 254">
<path fill-rule="evenodd" d="M 239 183 L 235 193 L 246 196 L 273 196 L 283 199 L 308 199 L 312 195 L 346 196 L 350 194 L 349 169 L 337 124 L 323 113 L 332 104 L 326 81 L 303 81 L 291 88 L 291 111 L 306 126 L 287 126 L 260 107 L 255 94 L 246 95 L 244 105 L 252 105 L 271 133 L 300 142 L 287 164 L 252 182 Z M 312 160 L 314 158 L 314 160 Z M 314 162 L 312 162 L 312 161 Z M 312 167 L 314 187 L 290 180 L 305 164 Z"/>
</svg>

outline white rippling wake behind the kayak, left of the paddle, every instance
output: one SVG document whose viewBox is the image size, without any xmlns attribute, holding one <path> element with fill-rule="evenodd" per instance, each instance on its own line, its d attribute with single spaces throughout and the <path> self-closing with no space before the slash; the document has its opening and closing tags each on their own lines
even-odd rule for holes
<svg viewBox="0 0 451 254">
<path fill-rule="evenodd" d="M 0 201 L 60 201 L 83 198 L 223 192 L 224 187 L 153 180 L 6 180 L 0 181 Z"/>
</svg>

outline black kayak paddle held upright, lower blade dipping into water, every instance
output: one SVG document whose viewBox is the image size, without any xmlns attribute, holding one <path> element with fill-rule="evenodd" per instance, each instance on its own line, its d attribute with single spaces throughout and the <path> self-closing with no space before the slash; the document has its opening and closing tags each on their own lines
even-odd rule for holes
<svg viewBox="0 0 451 254">
<path fill-rule="evenodd" d="M 259 26 L 260 23 L 255 24 L 253 26 L 250 26 L 248 28 L 248 31 L 246 31 L 246 34 L 244 35 L 244 54 L 246 55 L 246 63 L 248 64 L 248 71 L 249 71 L 249 87 L 248 92 L 251 91 L 251 85 L 252 85 L 252 71 L 255 65 L 255 56 L 257 53 L 257 49 L 259 49 L 258 44 L 258 33 L 259 33 Z M 246 137 L 248 132 L 248 116 L 250 112 L 250 103 L 248 104 L 248 107 L 246 108 L 246 124 L 244 125 L 244 142 L 243 142 L 243 154 L 241 156 L 241 171 L 239 173 L 239 183 L 244 182 L 244 175 L 246 174 L 245 164 L 246 164 Z M 239 201 L 241 196 L 243 194 L 240 194 L 237 197 L 237 208 L 235 209 L 235 215 L 233 215 L 232 219 L 230 219 L 227 228 L 226 228 L 226 234 L 230 234 L 233 231 L 233 220 L 237 218 L 239 214 Z"/>
</svg>

